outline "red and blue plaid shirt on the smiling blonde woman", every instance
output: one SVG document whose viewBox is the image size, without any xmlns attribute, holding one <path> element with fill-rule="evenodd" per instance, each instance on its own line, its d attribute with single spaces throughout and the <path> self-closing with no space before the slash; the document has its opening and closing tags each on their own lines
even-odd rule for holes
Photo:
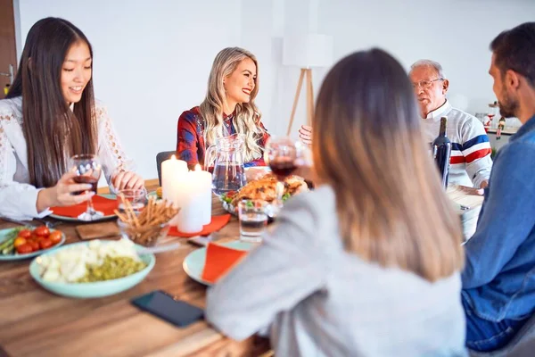
<svg viewBox="0 0 535 357">
<path fill-rule="evenodd" d="M 228 130 L 229 135 L 235 134 L 235 126 L 233 125 L 234 115 L 224 115 L 224 125 Z M 260 148 L 266 147 L 268 141 L 268 130 L 259 121 L 259 126 L 265 130 L 264 135 L 259 138 L 258 144 Z M 193 169 L 195 164 L 204 164 L 204 154 L 206 153 L 206 145 L 204 143 L 204 120 L 202 119 L 199 107 L 193 107 L 189 111 L 185 111 L 178 118 L 177 125 L 177 154 L 178 159 L 187 162 L 190 169 Z M 245 167 L 250 166 L 266 166 L 264 158 L 260 157 L 251 162 L 245 162 Z"/>
</svg>

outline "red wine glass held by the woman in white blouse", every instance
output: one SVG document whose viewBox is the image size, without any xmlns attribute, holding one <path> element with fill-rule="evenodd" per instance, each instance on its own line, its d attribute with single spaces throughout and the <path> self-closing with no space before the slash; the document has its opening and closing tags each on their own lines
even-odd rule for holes
<svg viewBox="0 0 535 357">
<path fill-rule="evenodd" d="M 70 158 L 70 168 L 76 171 L 73 178 L 77 184 L 91 184 L 91 189 L 96 194 L 96 186 L 100 178 L 103 167 L 95 154 L 79 154 Z M 82 195 L 87 191 L 78 191 L 74 195 Z M 86 212 L 78 216 L 78 220 L 98 220 L 103 218 L 103 212 L 95 211 L 93 200 L 87 200 Z"/>
</svg>

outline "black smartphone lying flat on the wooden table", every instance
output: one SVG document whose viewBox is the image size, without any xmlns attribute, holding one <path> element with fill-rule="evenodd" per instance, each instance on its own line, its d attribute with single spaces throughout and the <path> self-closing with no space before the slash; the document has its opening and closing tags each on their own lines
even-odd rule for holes
<svg viewBox="0 0 535 357">
<path fill-rule="evenodd" d="M 155 290 L 149 294 L 141 295 L 132 300 L 139 309 L 152 313 L 162 320 L 185 328 L 195 321 L 204 318 L 204 311 L 191 303 L 177 300 L 163 290 Z"/>
</svg>

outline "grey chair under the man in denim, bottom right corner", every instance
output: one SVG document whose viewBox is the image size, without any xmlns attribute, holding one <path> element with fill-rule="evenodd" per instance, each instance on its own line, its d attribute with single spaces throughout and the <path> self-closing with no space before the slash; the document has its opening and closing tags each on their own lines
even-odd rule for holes
<svg viewBox="0 0 535 357">
<path fill-rule="evenodd" d="M 490 352 L 469 351 L 470 357 L 523 357 L 535 355 L 535 314 L 502 348 Z M 527 354 L 526 354 L 527 353 Z"/>
</svg>

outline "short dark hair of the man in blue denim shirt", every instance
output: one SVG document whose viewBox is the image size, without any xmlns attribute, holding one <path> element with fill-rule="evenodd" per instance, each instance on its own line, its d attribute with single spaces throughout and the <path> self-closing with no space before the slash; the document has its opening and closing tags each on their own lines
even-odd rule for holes
<svg viewBox="0 0 535 357">
<path fill-rule="evenodd" d="M 535 87 L 535 22 L 524 22 L 500 33 L 490 43 L 502 76 L 515 71 Z"/>
</svg>

